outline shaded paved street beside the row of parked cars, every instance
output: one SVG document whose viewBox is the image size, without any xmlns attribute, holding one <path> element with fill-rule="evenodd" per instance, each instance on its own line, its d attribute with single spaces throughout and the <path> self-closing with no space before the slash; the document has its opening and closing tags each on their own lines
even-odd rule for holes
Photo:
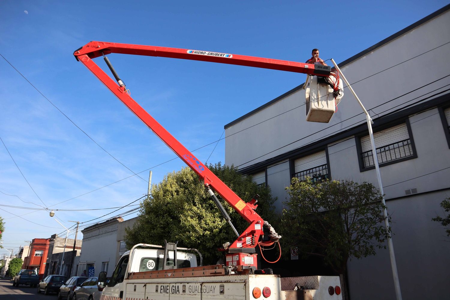
<svg viewBox="0 0 450 300">
<path fill-rule="evenodd" d="M 36 293 L 35 287 L 19 286 L 13 287 L 9 279 L 0 279 L 0 300 L 56 300 L 56 294 L 44 296 Z"/>
</svg>

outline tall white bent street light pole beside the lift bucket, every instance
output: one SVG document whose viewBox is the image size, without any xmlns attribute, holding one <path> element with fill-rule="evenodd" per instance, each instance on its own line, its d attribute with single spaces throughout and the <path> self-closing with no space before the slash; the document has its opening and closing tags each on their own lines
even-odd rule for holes
<svg viewBox="0 0 450 300">
<path fill-rule="evenodd" d="M 372 121 L 372 118 L 369 115 L 369 112 L 366 111 L 363 103 L 361 103 L 358 96 L 356 96 L 355 91 L 351 87 L 350 83 L 348 83 L 347 79 L 345 78 L 344 74 L 342 74 L 342 71 L 339 69 L 338 64 L 334 62 L 334 59 L 331 58 L 331 62 L 333 63 L 336 70 L 339 72 L 339 76 L 342 77 L 344 82 L 347 84 L 347 87 L 355 96 L 356 100 L 358 100 L 358 103 L 360 103 L 361 108 L 364 110 L 364 113 L 366 115 L 366 121 L 367 121 L 367 127 L 369 129 L 369 136 L 370 136 L 370 145 L 372 146 L 372 154 L 374 157 L 374 164 L 375 164 L 375 171 L 377 173 L 377 179 L 378 179 L 378 186 L 380 187 L 380 193 L 382 195 L 381 202 L 383 203 L 384 209 L 383 209 L 383 215 L 384 215 L 384 224 L 389 230 L 389 219 L 387 219 L 387 210 L 386 210 L 386 201 L 384 199 L 384 191 L 383 191 L 383 184 L 381 183 L 381 175 L 380 175 L 380 166 L 378 165 L 378 156 L 377 156 L 377 150 L 375 148 L 375 141 L 374 141 L 374 132 L 372 131 L 372 124 L 374 121 Z M 391 233 L 388 231 L 389 238 L 387 239 L 387 247 L 389 248 L 389 255 L 391 257 L 391 268 L 392 268 L 392 277 L 394 278 L 394 287 L 396 291 L 396 297 L 397 300 L 401 300 L 401 290 L 400 290 L 400 282 L 398 279 L 398 273 L 397 273 L 397 264 L 395 260 L 395 253 L 394 253 L 394 244 L 392 243 L 392 237 Z"/>
</svg>

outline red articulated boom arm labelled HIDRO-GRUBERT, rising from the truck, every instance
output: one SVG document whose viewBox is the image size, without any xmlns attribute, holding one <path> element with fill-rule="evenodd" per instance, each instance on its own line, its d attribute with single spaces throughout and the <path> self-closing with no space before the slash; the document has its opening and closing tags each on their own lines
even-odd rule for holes
<svg viewBox="0 0 450 300">
<path fill-rule="evenodd" d="M 254 202 L 245 203 L 227 185 L 216 177 L 202 164 L 188 149 L 176 140 L 162 125 L 153 119 L 126 91 L 125 85 L 118 85 L 92 60 L 110 53 L 135 54 L 146 56 L 160 56 L 168 58 L 181 58 L 214 63 L 227 63 L 248 67 L 260 67 L 288 72 L 305 73 L 309 75 L 328 76 L 329 66 L 297 63 L 278 59 L 259 58 L 237 54 L 178 49 L 156 46 L 118 44 L 92 41 L 74 52 L 78 61 L 83 63 L 104 85 L 117 96 L 131 112 L 139 117 L 166 145 L 175 152 L 191 169 L 203 180 L 207 188 L 216 191 L 231 205 L 250 226 L 239 235 L 229 246 L 229 253 L 254 253 L 255 247 L 263 233 L 264 220 L 256 212 Z"/>
</svg>

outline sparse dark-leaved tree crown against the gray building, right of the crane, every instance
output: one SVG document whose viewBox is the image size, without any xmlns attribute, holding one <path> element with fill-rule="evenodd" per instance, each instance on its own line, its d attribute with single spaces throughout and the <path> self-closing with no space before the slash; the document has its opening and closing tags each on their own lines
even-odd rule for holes
<svg viewBox="0 0 450 300">
<path fill-rule="evenodd" d="M 390 228 L 385 227 L 385 206 L 374 185 L 293 178 L 286 190 L 289 199 L 281 240 L 285 251 L 297 246 L 304 258 L 320 256 L 342 274 L 348 259 L 375 255 L 376 248 L 386 248 L 383 242 Z"/>
</svg>

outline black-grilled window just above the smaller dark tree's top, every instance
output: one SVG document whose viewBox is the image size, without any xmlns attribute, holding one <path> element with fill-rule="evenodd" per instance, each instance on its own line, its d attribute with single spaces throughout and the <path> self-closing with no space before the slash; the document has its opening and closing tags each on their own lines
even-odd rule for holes
<svg viewBox="0 0 450 300">
<path fill-rule="evenodd" d="M 297 177 L 301 181 L 305 180 L 306 177 L 310 177 L 313 182 L 329 179 L 330 175 L 325 150 L 296 159 L 294 161 L 294 170 L 293 177 Z"/>
</svg>

